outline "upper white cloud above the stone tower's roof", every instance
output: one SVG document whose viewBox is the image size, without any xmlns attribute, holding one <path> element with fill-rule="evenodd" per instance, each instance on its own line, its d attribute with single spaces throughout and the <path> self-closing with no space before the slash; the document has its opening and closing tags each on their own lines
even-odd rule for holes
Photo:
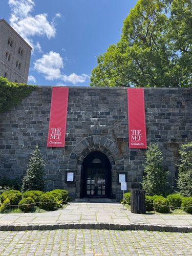
<svg viewBox="0 0 192 256">
<path fill-rule="evenodd" d="M 32 16 L 35 3 L 33 0 L 9 0 L 11 8 L 10 23 L 32 47 L 35 47 L 30 37 L 47 36 L 49 39 L 55 37 L 56 29 L 53 22 L 49 22 L 46 13 Z M 59 13 L 56 14 L 59 17 Z"/>
</svg>

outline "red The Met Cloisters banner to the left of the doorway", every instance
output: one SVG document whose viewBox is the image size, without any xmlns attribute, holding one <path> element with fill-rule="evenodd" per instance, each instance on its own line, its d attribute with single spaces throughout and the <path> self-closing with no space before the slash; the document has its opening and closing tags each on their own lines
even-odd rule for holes
<svg viewBox="0 0 192 256">
<path fill-rule="evenodd" d="M 65 146 L 68 92 L 69 89 L 65 87 L 53 87 L 52 89 L 48 147 Z"/>
</svg>

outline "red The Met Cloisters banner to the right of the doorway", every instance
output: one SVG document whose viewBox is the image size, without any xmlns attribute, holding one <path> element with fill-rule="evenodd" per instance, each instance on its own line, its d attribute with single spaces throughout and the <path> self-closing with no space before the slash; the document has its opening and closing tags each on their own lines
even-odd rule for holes
<svg viewBox="0 0 192 256">
<path fill-rule="evenodd" d="M 144 90 L 127 89 L 129 147 L 146 148 Z"/>
</svg>

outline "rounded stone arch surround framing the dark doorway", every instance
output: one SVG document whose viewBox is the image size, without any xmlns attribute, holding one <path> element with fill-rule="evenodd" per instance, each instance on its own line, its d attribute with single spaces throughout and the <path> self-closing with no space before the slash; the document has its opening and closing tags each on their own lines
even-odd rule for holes
<svg viewBox="0 0 192 256">
<path fill-rule="evenodd" d="M 100 135 L 93 135 L 82 139 L 73 148 L 68 160 L 68 170 L 75 172 L 77 198 L 80 197 L 81 192 L 80 187 L 83 160 L 86 156 L 94 151 L 103 153 L 110 161 L 112 173 L 112 194 L 115 194 L 116 191 L 117 170 L 124 170 L 124 158 L 120 154 L 118 146 L 115 142 Z"/>
</svg>

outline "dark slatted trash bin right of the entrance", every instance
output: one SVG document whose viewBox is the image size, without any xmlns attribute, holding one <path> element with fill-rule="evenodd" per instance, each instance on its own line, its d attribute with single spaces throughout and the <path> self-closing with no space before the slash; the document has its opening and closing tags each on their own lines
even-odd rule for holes
<svg viewBox="0 0 192 256">
<path fill-rule="evenodd" d="M 131 189 L 131 212 L 134 214 L 145 214 L 145 190 Z"/>
</svg>

